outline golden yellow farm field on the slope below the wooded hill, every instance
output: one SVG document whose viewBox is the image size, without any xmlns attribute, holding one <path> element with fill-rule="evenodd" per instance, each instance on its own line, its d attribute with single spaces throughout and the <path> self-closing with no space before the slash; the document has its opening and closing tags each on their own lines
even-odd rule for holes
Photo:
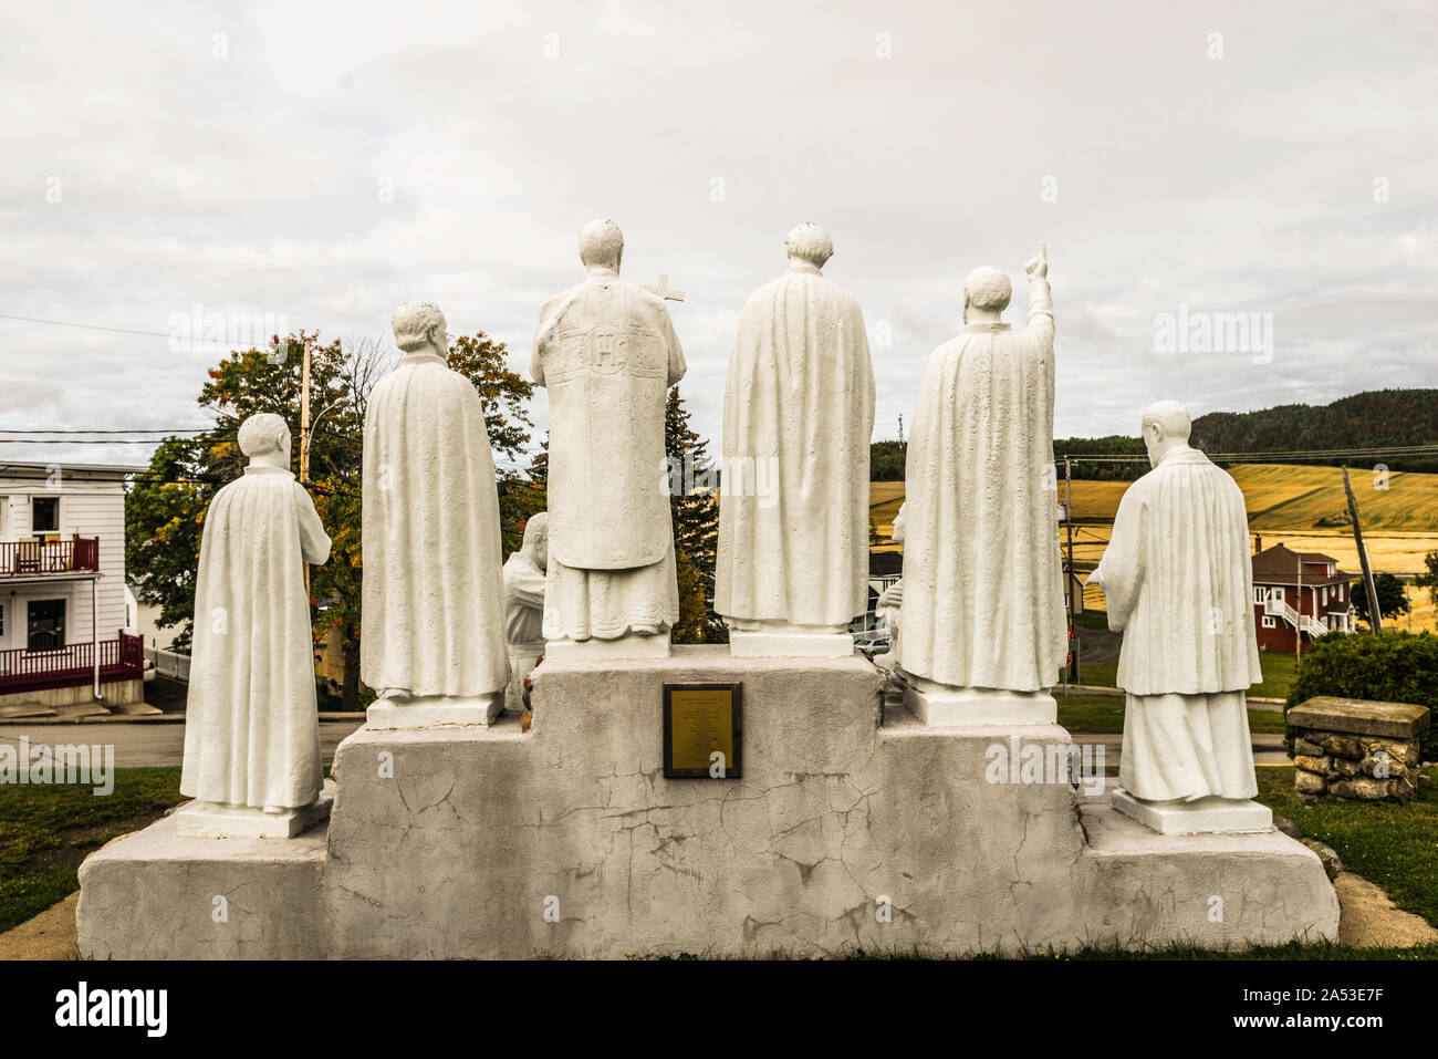
<svg viewBox="0 0 1438 1059">
<path fill-rule="evenodd" d="M 1438 548 L 1438 475 L 1393 473 L 1386 482 L 1373 472 L 1349 471 L 1363 542 L 1375 573 L 1424 573 L 1424 555 Z M 1322 551 L 1337 560 L 1339 568 L 1357 576 L 1357 547 L 1346 525 L 1317 525 L 1320 519 L 1347 514 L 1343 472 L 1288 463 L 1252 463 L 1232 469 L 1244 492 L 1248 525 L 1263 547 L 1286 544 L 1297 551 Z M 1386 488 L 1378 488 L 1383 486 Z M 1083 570 L 1103 555 L 1119 501 L 1129 482 L 1077 481 L 1073 483 L 1074 563 Z M 1063 496 L 1064 483 L 1058 483 Z M 903 504 L 903 482 L 870 483 L 870 512 L 883 537 L 893 532 L 893 517 Z M 1091 519 L 1091 521 L 1090 521 Z M 892 547 L 892 545 L 887 545 Z M 1438 630 L 1438 614 L 1426 590 L 1408 590 L 1414 606 L 1412 627 Z M 1103 593 L 1084 591 L 1084 606 L 1103 610 Z M 1405 616 L 1399 627 L 1408 627 Z"/>
</svg>

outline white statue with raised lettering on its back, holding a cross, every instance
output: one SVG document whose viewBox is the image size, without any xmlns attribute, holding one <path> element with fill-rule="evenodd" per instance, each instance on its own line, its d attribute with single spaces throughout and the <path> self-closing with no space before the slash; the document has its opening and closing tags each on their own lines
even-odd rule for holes
<svg viewBox="0 0 1438 1059">
<path fill-rule="evenodd" d="M 580 233 L 588 275 L 539 311 L 531 374 L 549 391 L 545 658 L 663 656 L 679 620 L 664 399 L 684 354 L 664 299 L 620 279 L 624 236 Z"/>
</svg>

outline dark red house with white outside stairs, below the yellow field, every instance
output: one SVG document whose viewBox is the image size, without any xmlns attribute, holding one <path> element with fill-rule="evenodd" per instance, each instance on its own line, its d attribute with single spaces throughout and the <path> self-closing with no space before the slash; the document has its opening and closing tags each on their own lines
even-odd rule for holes
<svg viewBox="0 0 1438 1059">
<path fill-rule="evenodd" d="M 1257 553 L 1252 564 L 1254 622 L 1261 649 L 1291 655 L 1300 635 L 1307 645 L 1327 632 L 1353 632 L 1349 581 L 1355 574 L 1339 570 L 1332 555 L 1276 544 Z"/>
</svg>

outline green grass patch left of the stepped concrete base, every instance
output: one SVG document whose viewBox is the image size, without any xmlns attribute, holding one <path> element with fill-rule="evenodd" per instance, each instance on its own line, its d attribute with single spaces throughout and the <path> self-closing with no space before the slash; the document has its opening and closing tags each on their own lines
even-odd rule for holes
<svg viewBox="0 0 1438 1059">
<path fill-rule="evenodd" d="M 0 931 L 73 894 L 81 860 L 184 800 L 178 768 L 116 768 L 104 797 L 86 784 L 0 784 Z"/>
</svg>

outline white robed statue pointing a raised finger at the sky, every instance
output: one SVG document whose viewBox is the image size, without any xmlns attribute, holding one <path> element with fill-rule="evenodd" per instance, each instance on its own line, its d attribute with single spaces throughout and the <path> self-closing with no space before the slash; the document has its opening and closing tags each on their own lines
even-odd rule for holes
<svg viewBox="0 0 1438 1059">
<path fill-rule="evenodd" d="M 1053 724 L 1067 656 L 1054 482 L 1048 260 L 1025 266 L 1028 327 L 1008 276 L 963 283 L 963 327 L 929 358 L 905 469 L 906 701 L 929 724 Z"/>
</svg>

